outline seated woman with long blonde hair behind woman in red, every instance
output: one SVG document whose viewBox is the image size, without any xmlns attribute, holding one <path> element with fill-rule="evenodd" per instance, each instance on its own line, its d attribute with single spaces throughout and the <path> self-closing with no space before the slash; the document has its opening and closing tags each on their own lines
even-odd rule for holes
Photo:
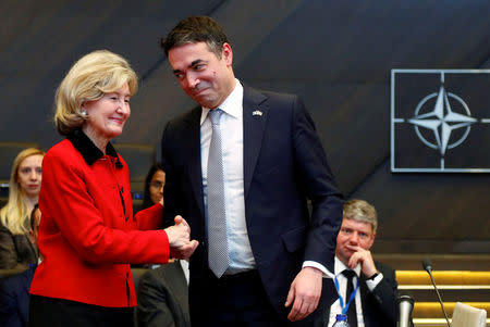
<svg viewBox="0 0 490 327">
<path fill-rule="evenodd" d="M 9 202 L 0 210 L 0 269 L 37 263 L 37 248 L 29 241 L 29 213 L 39 197 L 44 155 L 41 150 L 29 148 L 13 162 Z"/>
</svg>

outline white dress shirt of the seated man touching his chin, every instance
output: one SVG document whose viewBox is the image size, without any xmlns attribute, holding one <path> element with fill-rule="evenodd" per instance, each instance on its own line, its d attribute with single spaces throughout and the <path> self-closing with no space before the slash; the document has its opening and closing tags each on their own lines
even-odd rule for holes
<svg viewBox="0 0 490 327">
<path fill-rule="evenodd" d="M 348 267 L 346 267 L 343 264 L 343 262 L 341 262 L 339 260 L 339 257 L 336 257 L 336 255 L 335 255 L 335 276 L 336 276 L 336 280 L 339 281 L 339 292 L 340 292 L 340 295 L 342 297 L 342 299 L 344 300 L 344 305 L 348 301 L 348 299 L 346 299 L 346 297 L 345 297 L 345 293 L 347 292 L 347 277 L 345 277 L 342 274 L 342 272 L 345 269 L 348 269 Z M 360 264 L 358 264 L 354 268 L 354 272 L 356 273 L 356 276 L 358 277 L 360 274 Z M 352 280 L 354 289 L 357 286 L 357 277 L 356 276 Z M 375 280 L 366 280 L 366 285 L 367 285 L 369 291 L 372 291 L 376 288 L 376 286 L 381 281 L 382 278 L 383 278 L 383 275 L 381 273 L 379 273 L 378 276 L 376 276 Z M 360 303 L 360 289 L 357 290 L 355 298 L 356 298 L 357 326 L 364 327 L 363 303 Z M 336 301 L 333 302 L 333 304 L 330 306 L 330 316 L 329 316 L 328 327 L 331 327 L 335 323 L 338 314 L 342 314 L 340 299 L 336 299 Z"/>
</svg>

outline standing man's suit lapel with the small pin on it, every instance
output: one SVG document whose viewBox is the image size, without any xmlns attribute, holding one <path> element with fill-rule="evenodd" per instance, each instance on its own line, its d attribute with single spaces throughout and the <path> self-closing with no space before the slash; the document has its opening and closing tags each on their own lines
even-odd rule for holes
<svg viewBox="0 0 490 327">
<path fill-rule="evenodd" d="M 249 87 L 243 91 L 243 168 L 244 192 L 247 197 L 266 129 L 267 97 Z"/>
</svg>

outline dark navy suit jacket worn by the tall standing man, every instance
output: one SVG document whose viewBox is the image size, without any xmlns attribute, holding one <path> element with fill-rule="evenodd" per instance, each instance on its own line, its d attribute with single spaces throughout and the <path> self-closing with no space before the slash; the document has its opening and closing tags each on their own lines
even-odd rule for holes
<svg viewBox="0 0 490 327">
<path fill-rule="evenodd" d="M 169 122 L 162 137 L 166 221 L 181 214 L 191 225 L 192 238 L 200 243 L 191 256 L 191 310 L 193 299 L 204 297 L 193 289 L 206 282 L 208 268 L 200 114 L 199 106 Z M 305 260 L 333 271 L 343 200 L 314 123 L 296 96 L 244 87 L 243 133 L 248 238 L 267 294 L 285 314 L 287 291 Z"/>
</svg>

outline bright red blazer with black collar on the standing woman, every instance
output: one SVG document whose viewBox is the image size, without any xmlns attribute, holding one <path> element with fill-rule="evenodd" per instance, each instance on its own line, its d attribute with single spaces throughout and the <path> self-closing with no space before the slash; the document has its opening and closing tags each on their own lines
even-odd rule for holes
<svg viewBox="0 0 490 327">
<path fill-rule="evenodd" d="M 133 216 L 130 172 L 109 143 L 103 155 L 82 133 L 45 155 L 38 244 L 30 293 L 101 306 L 135 306 L 128 263 L 167 263 L 162 206 Z"/>
</svg>

